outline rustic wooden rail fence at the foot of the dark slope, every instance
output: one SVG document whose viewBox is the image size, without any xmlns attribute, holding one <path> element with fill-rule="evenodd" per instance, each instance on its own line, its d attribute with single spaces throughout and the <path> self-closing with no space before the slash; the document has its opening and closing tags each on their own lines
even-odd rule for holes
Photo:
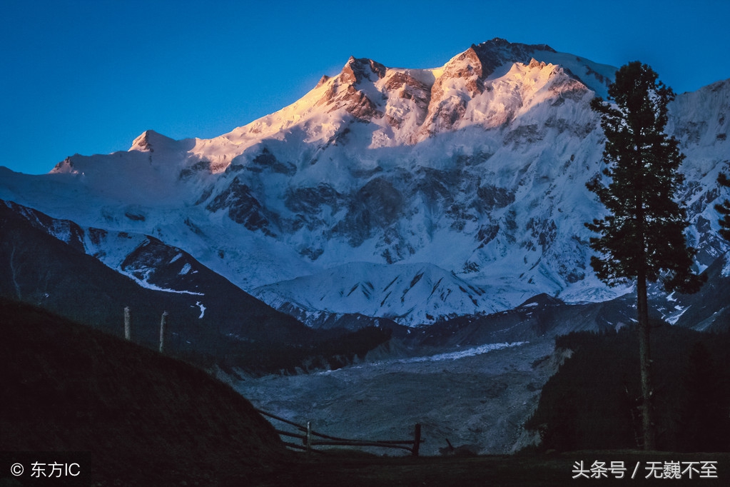
<svg viewBox="0 0 730 487">
<path fill-rule="evenodd" d="M 328 434 L 315 432 L 312 429 L 312 423 L 309 421 L 307 421 L 307 426 L 302 426 L 301 424 L 294 423 L 293 421 L 289 421 L 288 419 L 280 418 L 279 416 L 273 415 L 272 413 L 267 413 L 266 411 L 262 411 L 260 409 L 257 409 L 257 411 L 267 418 L 281 421 L 282 423 L 286 423 L 290 426 L 294 426 L 296 429 L 299 429 L 301 434 L 285 432 L 283 430 L 274 428 L 276 429 L 276 432 L 281 436 L 301 440 L 301 445 L 299 445 L 298 443 L 284 441 L 284 445 L 288 446 L 289 448 L 296 448 L 297 450 L 318 451 L 319 453 L 322 453 L 321 450 L 315 450 L 312 447 L 325 445 L 400 448 L 402 450 L 410 451 L 412 456 L 418 456 L 420 444 L 425 441 L 420 437 L 420 424 L 418 423 L 416 423 L 415 428 L 413 429 L 413 440 L 348 440 L 347 438 L 333 437 Z"/>
</svg>

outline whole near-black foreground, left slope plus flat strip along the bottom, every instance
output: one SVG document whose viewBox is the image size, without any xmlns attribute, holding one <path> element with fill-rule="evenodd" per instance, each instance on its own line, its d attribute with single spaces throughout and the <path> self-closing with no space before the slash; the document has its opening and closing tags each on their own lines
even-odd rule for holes
<svg viewBox="0 0 730 487">
<path fill-rule="evenodd" d="M 4 299 L 0 332 L 0 451 L 5 452 L 0 461 L 80 464 L 79 478 L 46 479 L 45 485 L 564 486 L 579 461 L 586 467 L 623 462 L 626 479 L 638 465 L 632 483 L 645 485 L 650 462 L 677 461 L 713 473 L 715 478 L 693 480 L 715 486 L 726 485 L 730 465 L 727 453 L 629 450 L 305 458 L 286 452 L 246 399 L 179 361 Z M 7 453 L 18 450 L 55 453 Z M 64 450 L 69 453 L 59 453 Z M 716 470 L 697 462 L 710 462 Z M 611 483 L 613 474 L 608 475 L 602 483 Z M 26 485 L 20 480 L 0 474 L 0 485 Z"/>
</svg>

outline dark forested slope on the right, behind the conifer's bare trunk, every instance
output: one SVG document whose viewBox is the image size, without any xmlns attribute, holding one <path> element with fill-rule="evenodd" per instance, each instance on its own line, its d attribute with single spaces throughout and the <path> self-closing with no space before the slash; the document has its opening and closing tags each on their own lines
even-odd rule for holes
<svg viewBox="0 0 730 487">
<path fill-rule="evenodd" d="M 730 334 L 654 323 L 651 334 L 657 446 L 681 452 L 730 451 Z M 542 388 L 527 423 L 542 448 L 639 448 L 639 345 L 632 327 L 556 339 L 572 350 Z"/>
</svg>

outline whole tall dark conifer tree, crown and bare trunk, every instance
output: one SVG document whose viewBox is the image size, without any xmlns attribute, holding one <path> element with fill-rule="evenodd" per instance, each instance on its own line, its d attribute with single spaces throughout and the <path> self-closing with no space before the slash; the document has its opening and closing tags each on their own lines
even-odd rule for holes
<svg viewBox="0 0 730 487">
<path fill-rule="evenodd" d="M 616 72 L 608 94 L 612 103 L 591 103 L 606 136 L 607 185 L 598 178 L 588 183 L 608 215 L 585 226 L 600 234 L 591 238 L 596 275 L 608 285 L 636 283 L 643 439 L 644 448 L 654 450 L 647 283 L 661 280 L 667 291 L 691 293 L 702 279 L 692 272 L 696 250 L 686 245 L 689 223 L 675 200 L 684 156 L 677 140 L 664 134 L 666 105 L 675 93 L 649 66 L 634 61 Z"/>
</svg>

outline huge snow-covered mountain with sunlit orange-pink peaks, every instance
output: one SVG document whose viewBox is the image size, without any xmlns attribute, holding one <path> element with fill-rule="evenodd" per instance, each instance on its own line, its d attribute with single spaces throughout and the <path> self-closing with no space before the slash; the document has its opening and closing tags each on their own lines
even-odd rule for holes
<svg viewBox="0 0 730 487">
<path fill-rule="evenodd" d="M 541 293 L 609 299 L 627 290 L 593 275 L 583 223 L 602 211 L 585 188 L 604 142 L 589 102 L 614 72 L 502 39 L 432 69 L 350 58 L 220 137 L 145 131 L 126 152 L 71 156 L 47 175 L 0 168 L 0 199 L 145 236 L 85 242 L 118 272 L 153 283 L 154 269 L 125 262 L 164 242 L 305 322 L 359 313 L 417 325 Z M 702 268 L 727 248 L 712 207 L 726 197 L 715 179 L 729 124 L 730 80 L 671 106 Z"/>
</svg>

